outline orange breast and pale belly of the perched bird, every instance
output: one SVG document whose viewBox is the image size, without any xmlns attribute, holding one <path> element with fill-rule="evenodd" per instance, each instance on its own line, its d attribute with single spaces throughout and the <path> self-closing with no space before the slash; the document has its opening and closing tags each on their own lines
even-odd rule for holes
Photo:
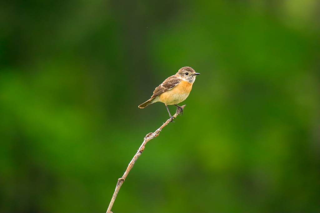
<svg viewBox="0 0 320 213">
<path fill-rule="evenodd" d="M 188 97 L 192 84 L 182 80 L 177 86 L 159 95 L 159 100 L 167 105 L 178 104 Z"/>
</svg>

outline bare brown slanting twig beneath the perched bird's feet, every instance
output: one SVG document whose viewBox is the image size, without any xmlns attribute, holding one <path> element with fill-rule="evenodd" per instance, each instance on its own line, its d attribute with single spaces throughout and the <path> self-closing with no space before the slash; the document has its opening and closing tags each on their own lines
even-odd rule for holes
<svg viewBox="0 0 320 213">
<path fill-rule="evenodd" d="M 185 107 L 186 105 L 183 105 L 182 106 L 182 109 Z M 180 114 L 180 109 L 178 108 L 177 111 L 176 111 L 176 114 L 173 115 L 173 117 L 177 117 L 179 114 Z M 117 185 L 116 185 L 116 190 L 115 190 L 115 193 L 113 193 L 113 196 L 112 196 L 112 199 L 111 199 L 111 202 L 109 204 L 109 207 L 108 207 L 108 210 L 107 210 L 107 213 L 112 213 L 111 209 L 112 209 L 112 206 L 113 206 L 113 203 L 115 202 L 116 200 L 116 196 L 120 190 L 120 187 L 122 186 L 125 178 L 127 177 L 129 171 L 132 169 L 134 163 L 137 161 L 137 159 L 140 157 L 141 153 L 143 152 L 144 150 L 144 146 L 147 144 L 148 141 L 150 141 L 151 139 L 157 137 L 160 133 L 160 131 L 162 130 L 162 128 L 164 126 L 167 126 L 167 124 L 169 124 L 171 121 L 171 118 L 168 119 L 162 126 L 160 126 L 159 129 L 156 130 L 156 132 L 154 133 L 149 133 L 146 135 L 146 137 L 144 138 L 143 140 L 143 143 L 141 144 L 140 148 L 138 149 L 138 152 L 133 156 L 130 164 L 128 165 L 128 168 L 127 170 L 124 172 L 124 175 L 122 176 L 122 178 L 119 178 L 118 179 L 118 182 L 117 182 Z"/>
</svg>

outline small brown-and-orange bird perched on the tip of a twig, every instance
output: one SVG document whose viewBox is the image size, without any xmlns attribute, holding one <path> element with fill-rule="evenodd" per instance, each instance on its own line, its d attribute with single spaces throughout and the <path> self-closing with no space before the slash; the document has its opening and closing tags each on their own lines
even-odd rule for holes
<svg viewBox="0 0 320 213">
<path fill-rule="evenodd" d="M 171 121 L 173 121 L 173 118 L 175 117 L 170 114 L 168 105 L 177 106 L 177 110 L 180 109 L 181 115 L 183 114 L 183 108 L 177 104 L 186 100 L 197 75 L 200 75 L 200 73 L 195 72 L 191 67 L 185 66 L 180 68 L 175 75 L 170 76 L 164 80 L 162 84 L 156 87 L 155 91 L 153 91 L 153 95 L 148 101 L 142 103 L 138 107 L 145 108 L 151 103 L 162 102 L 168 110 Z"/>
</svg>

